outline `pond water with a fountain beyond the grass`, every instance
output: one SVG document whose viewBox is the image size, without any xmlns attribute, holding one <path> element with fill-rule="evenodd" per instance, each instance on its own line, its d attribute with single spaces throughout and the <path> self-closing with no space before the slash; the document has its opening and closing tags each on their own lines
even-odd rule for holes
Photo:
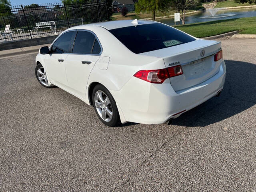
<svg viewBox="0 0 256 192">
<path fill-rule="evenodd" d="M 224 16 L 222 15 L 224 14 Z M 222 15 L 222 16 L 220 16 Z M 225 16 L 226 15 L 226 16 Z M 233 18 L 243 18 L 243 17 L 253 17 L 256 16 L 256 8 L 243 8 L 243 9 L 230 9 L 230 10 L 218 10 L 214 18 L 212 18 L 210 12 L 200 12 L 196 14 L 188 14 L 185 19 L 185 24 L 206 22 L 206 21 L 215 21 L 215 20 L 224 20 L 224 19 L 233 19 Z M 207 17 L 207 18 L 205 18 Z M 158 22 L 162 22 L 168 25 L 174 25 L 174 18 L 160 19 Z M 176 25 L 178 22 L 176 22 Z M 180 20 L 180 24 L 182 21 Z"/>
</svg>

